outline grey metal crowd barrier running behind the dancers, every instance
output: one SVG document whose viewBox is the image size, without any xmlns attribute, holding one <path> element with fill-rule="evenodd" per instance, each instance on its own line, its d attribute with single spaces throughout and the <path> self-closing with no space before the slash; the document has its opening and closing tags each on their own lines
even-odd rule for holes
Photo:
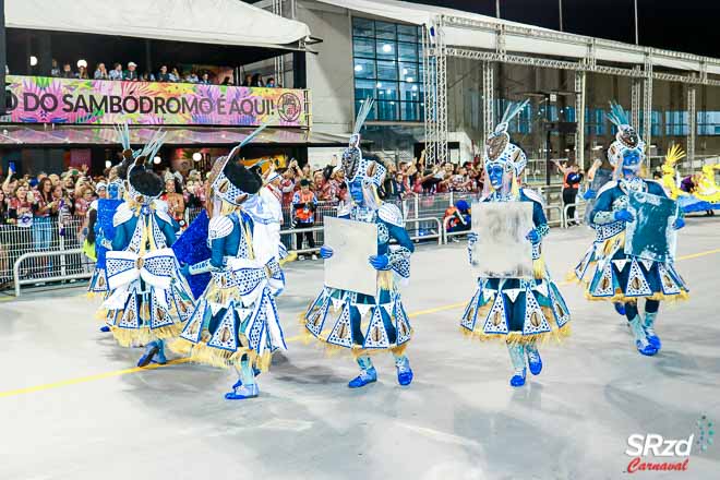
<svg viewBox="0 0 720 480">
<path fill-rule="evenodd" d="M 557 187 L 541 188 L 540 193 L 549 204 L 545 213 L 551 226 L 566 225 L 567 208 L 563 211 Z M 447 232 L 444 224 L 445 211 L 458 200 L 472 204 L 478 200 L 476 193 L 444 193 L 435 195 L 413 195 L 404 200 L 391 201 L 403 212 L 406 228 L 416 242 L 447 242 L 455 233 Z M 323 244 L 324 218 L 337 215 L 337 204 L 320 202 L 315 211 L 315 223 L 311 228 L 293 225 L 291 205 L 283 207 L 284 224 L 280 231 L 283 243 L 288 250 L 299 254 L 316 253 Z M 202 209 L 188 208 L 185 219 L 192 221 Z M 578 218 L 581 219 L 580 213 Z M 74 281 L 87 278 L 93 272 L 93 263 L 82 253 L 85 239 L 83 217 L 71 217 L 59 221 L 58 218 L 35 219 L 31 227 L 14 225 L 0 226 L 0 289 L 21 285 L 37 285 L 57 281 Z M 310 233 L 314 248 L 308 243 Z M 457 233 L 463 235 L 463 233 Z M 300 247 L 302 236 L 302 248 Z"/>
</svg>

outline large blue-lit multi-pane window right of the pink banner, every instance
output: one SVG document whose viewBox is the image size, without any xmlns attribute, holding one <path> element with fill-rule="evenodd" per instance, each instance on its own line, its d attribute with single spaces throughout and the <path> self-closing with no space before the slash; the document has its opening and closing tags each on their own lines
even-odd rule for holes
<svg viewBox="0 0 720 480">
<path fill-rule="evenodd" d="M 353 17 L 352 36 L 356 108 L 370 97 L 376 103 L 370 120 L 421 121 L 420 28 Z"/>
</svg>

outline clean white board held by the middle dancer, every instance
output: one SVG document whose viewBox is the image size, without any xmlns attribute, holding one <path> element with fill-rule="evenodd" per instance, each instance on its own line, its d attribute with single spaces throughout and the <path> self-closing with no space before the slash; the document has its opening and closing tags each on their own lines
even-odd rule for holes
<svg viewBox="0 0 720 480">
<path fill-rule="evenodd" d="M 325 260 L 325 285 L 375 296 L 377 271 L 368 259 L 377 254 L 377 225 L 325 217 L 325 244 L 333 256 Z"/>
</svg>

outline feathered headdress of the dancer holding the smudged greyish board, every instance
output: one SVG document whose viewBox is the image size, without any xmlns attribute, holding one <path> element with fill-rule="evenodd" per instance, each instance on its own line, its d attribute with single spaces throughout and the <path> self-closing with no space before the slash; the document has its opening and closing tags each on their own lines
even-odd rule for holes
<svg viewBox="0 0 720 480">
<path fill-rule="evenodd" d="M 501 122 L 497 123 L 485 142 L 483 155 L 485 169 L 491 165 L 500 164 L 506 171 L 512 171 L 516 178 L 525 169 L 528 158 L 519 146 L 511 143 L 507 130 L 509 129 L 511 120 L 517 117 L 529 101 L 527 99 L 517 103 L 511 101 L 507 108 L 505 108 Z"/>
</svg>

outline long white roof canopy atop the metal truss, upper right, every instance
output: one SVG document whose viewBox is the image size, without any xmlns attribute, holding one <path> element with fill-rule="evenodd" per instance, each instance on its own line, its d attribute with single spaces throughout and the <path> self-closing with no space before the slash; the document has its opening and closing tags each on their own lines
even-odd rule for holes
<svg viewBox="0 0 720 480">
<path fill-rule="evenodd" d="M 316 1 L 394 22 L 416 25 L 435 25 L 441 16 L 445 16 L 449 22 L 445 22 L 443 34 L 445 45 L 448 47 L 495 50 L 497 47 L 497 31 L 502 25 L 504 26 L 504 48 L 508 52 L 579 59 L 586 58 L 588 49 L 592 48 L 595 58 L 600 61 L 644 64 L 646 55 L 651 51 L 655 65 L 696 72 L 701 72 L 705 68 L 707 73 L 720 74 L 720 59 L 566 34 L 460 10 L 398 0 Z"/>
</svg>

